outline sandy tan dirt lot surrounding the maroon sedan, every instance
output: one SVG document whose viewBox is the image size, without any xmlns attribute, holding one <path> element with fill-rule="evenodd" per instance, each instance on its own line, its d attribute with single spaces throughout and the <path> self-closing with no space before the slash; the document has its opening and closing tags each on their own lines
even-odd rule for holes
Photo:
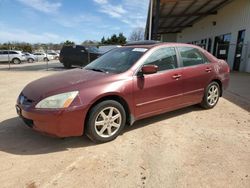
<svg viewBox="0 0 250 188">
<path fill-rule="evenodd" d="M 250 187 L 249 74 L 240 75 L 242 93 L 233 74 L 212 110 L 192 106 L 148 118 L 96 145 L 43 136 L 17 118 L 21 89 L 62 71 L 60 64 L 49 71 L 42 63 L 6 67 L 0 65 L 1 187 Z"/>
</svg>

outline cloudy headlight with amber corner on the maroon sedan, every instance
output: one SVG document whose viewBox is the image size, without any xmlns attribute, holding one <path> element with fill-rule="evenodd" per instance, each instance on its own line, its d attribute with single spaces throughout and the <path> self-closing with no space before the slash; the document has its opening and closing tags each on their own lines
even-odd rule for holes
<svg viewBox="0 0 250 188">
<path fill-rule="evenodd" d="M 41 100 L 36 108 L 67 108 L 78 95 L 78 91 L 61 93 Z"/>
</svg>

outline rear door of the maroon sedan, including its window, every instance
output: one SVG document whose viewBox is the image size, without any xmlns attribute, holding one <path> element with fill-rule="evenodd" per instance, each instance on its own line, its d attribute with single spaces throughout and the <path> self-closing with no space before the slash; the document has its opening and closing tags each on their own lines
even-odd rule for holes
<svg viewBox="0 0 250 188">
<path fill-rule="evenodd" d="M 180 55 L 183 79 L 183 103 L 202 101 L 204 90 L 212 79 L 212 64 L 194 47 L 177 47 Z"/>
</svg>

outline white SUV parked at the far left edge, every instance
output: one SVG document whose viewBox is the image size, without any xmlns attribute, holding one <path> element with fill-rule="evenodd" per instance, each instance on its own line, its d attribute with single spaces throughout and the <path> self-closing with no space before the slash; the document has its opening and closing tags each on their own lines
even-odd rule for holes
<svg viewBox="0 0 250 188">
<path fill-rule="evenodd" d="M 25 61 L 25 55 L 21 51 L 17 50 L 0 50 L 0 62 L 12 62 L 14 64 L 20 64 Z"/>
</svg>

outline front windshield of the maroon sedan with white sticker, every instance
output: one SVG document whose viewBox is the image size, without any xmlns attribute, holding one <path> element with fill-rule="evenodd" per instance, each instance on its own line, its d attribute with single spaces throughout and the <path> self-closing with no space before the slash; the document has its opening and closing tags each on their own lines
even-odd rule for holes
<svg viewBox="0 0 250 188">
<path fill-rule="evenodd" d="M 123 47 L 113 49 L 85 67 L 87 70 L 122 73 L 147 51 L 147 48 Z"/>
</svg>

